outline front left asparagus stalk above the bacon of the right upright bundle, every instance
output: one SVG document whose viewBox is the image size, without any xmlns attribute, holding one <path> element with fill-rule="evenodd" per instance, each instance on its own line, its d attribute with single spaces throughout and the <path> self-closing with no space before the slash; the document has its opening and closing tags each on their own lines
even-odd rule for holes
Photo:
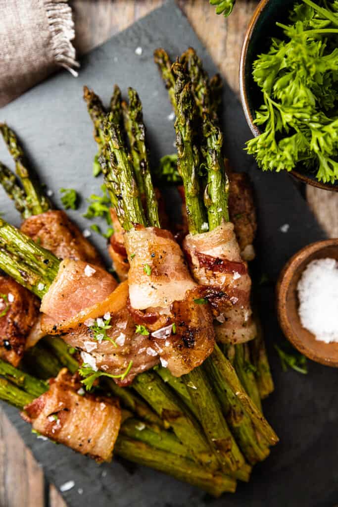
<svg viewBox="0 0 338 507">
<path fill-rule="evenodd" d="M 191 92 L 191 84 L 187 82 L 182 65 L 177 62 L 174 63 L 173 72 L 177 76 L 175 83 L 177 168 L 182 177 L 185 190 L 189 231 L 195 234 L 208 229 L 205 209 L 200 198 L 199 153 L 194 144 L 193 121 L 196 108 Z"/>
</svg>

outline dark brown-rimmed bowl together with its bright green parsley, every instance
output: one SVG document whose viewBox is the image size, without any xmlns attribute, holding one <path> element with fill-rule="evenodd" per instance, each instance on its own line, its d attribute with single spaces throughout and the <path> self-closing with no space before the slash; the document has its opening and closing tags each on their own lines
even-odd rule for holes
<svg viewBox="0 0 338 507">
<path fill-rule="evenodd" d="M 338 1 L 261 0 L 240 93 L 258 166 L 338 191 Z"/>
</svg>

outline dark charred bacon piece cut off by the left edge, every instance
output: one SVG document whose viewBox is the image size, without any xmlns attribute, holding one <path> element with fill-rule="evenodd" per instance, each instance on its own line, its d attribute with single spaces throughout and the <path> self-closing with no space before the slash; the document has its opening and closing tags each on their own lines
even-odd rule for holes
<svg viewBox="0 0 338 507">
<path fill-rule="evenodd" d="M 0 357 L 17 366 L 39 317 L 39 300 L 9 277 L 0 276 Z"/>
</svg>

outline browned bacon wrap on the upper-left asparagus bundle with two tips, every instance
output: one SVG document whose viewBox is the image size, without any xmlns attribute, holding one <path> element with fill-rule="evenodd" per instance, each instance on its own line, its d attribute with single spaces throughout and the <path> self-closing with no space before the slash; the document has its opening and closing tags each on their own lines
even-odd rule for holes
<svg viewBox="0 0 338 507">
<path fill-rule="evenodd" d="M 102 266 L 96 248 L 84 238 L 64 211 L 52 210 L 30 216 L 21 224 L 21 231 L 59 257 Z"/>
</svg>

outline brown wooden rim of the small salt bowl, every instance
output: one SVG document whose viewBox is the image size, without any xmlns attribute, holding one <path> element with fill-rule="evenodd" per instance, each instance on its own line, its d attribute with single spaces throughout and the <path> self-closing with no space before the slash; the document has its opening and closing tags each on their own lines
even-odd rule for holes
<svg viewBox="0 0 338 507">
<path fill-rule="evenodd" d="M 338 354 L 337 358 L 327 358 L 321 356 L 314 352 L 310 351 L 307 347 L 304 346 L 303 341 L 298 335 L 293 331 L 293 327 L 290 324 L 289 319 L 286 314 L 286 296 L 288 293 L 288 287 L 297 271 L 297 268 L 301 266 L 304 261 L 310 258 L 313 253 L 322 250 L 328 246 L 334 246 L 338 249 L 338 238 L 330 238 L 324 239 L 322 241 L 316 241 L 314 243 L 310 243 L 305 246 L 301 250 L 298 250 L 294 255 L 289 259 L 289 261 L 285 264 L 282 269 L 277 284 L 276 284 L 276 309 L 277 309 L 277 318 L 281 330 L 287 340 L 302 354 L 306 355 L 309 359 L 316 361 L 316 363 L 320 363 L 325 366 L 338 367 Z M 325 344 L 322 342 L 323 346 L 330 344 Z M 324 348 L 324 347 L 323 347 Z"/>
</svg>

